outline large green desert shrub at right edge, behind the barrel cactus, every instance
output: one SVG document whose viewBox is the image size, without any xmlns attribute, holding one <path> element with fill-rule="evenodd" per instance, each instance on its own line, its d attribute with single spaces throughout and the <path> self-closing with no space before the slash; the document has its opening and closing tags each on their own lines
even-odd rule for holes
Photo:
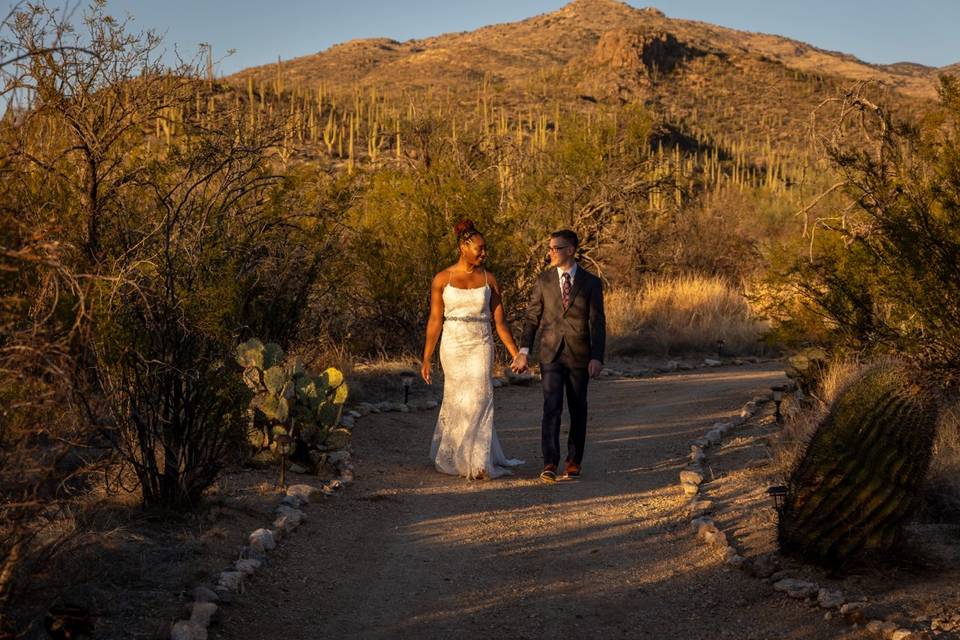
<svg viewBox="0 0 960 640">
<path fill-rule="evenodd" d="M 960 84 L 944 77 L 939 107 L 918 125 L 894 121 L 858 92 L 835 106 L 836 135 L 824 149 L 846 202 L 821 210 L 809 253 L 785 279 L 837 344 L 953 372 L 960 362 Z"/>
</svg>

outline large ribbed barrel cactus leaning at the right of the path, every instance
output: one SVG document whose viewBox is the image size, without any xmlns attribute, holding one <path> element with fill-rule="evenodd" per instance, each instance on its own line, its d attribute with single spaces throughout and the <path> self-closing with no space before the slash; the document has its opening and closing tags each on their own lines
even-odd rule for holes
<svg viewBox="0 0 960 640">
<path fill-rule="evenodd" d="M 889 550 L 917 506 L 936 425 L 936 402 L 902 368 L 868 369 L 837 398 L 790 476 L 781 549 L 834 569 Z"/>
</svg>

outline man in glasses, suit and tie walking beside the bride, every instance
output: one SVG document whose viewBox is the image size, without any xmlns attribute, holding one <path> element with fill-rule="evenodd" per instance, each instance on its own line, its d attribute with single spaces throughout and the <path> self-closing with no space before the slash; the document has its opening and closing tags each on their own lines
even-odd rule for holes
<svg viewBox="0 0 960 640">
<path fill-rule="evenodd" d="M 570 435 L 564 479 L 580 477 L 583 446 L 587 436 L 587 382 L 603 368 L 606 320 L 603 315 L 603 284 L 573 259 L 579 239 L 564 229 L 550 234 L 550 268 L 533 286 L 524 320 L 517 370 L 527 368 L 527 355 L 537 329 L 540 335 L 540 373 L 543 383 L 544 482 L 557 480 L 560 464 L 560 414 L 566 393 L 570 410 Z"/>
</svg>

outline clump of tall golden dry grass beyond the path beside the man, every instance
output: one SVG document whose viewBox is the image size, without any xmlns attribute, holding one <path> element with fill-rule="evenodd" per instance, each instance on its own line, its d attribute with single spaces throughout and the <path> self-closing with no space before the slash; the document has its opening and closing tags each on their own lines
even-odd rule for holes
<svg viewBox="0 0 960 640">
<path fill-rule="evenodd" d="M 764 325 L 742 293 L 720 278 L 656 278 L 639 291 L 606 296 L 607 335 L 614 353 L 755 354 Z"/>
</svg>

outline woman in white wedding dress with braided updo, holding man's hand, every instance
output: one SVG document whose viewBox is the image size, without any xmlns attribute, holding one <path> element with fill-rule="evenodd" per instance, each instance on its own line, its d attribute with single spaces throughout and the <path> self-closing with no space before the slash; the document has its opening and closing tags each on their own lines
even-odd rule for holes
<svg viewBox="0 0 960 640">
<path fill-rule="evenodd" d="M 430 362 L 442 328 L 443 404 L 430 457 L 443 473 L 470 479 L 495 478 L 509 474 L 508 467 L 523 461 L 503 454 L 493 428 L 491 317 L 514 362 L 519 350 L 505 318 L 497 279 L 483 268 L 487 257 L 483 234 L 470 220 L 461 220 L 453 230 L 460 259 L 433 278 L 420 369 L 424 381 L 431 384 Z"/>
</svg>

